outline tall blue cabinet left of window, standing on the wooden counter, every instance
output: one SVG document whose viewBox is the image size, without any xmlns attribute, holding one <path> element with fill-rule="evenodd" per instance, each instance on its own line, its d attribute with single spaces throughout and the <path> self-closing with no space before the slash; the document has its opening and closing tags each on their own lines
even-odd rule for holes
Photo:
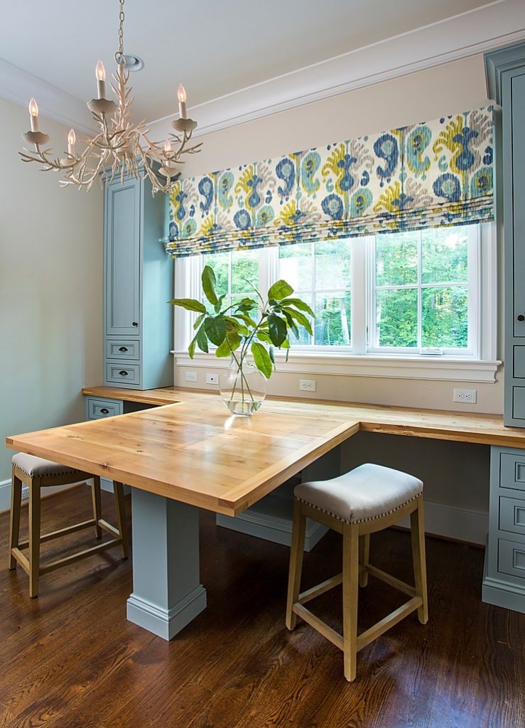
<svg viewBox="0 0 525 728">
<path fill-rule="evenodd" d="M 105 186 L 104 384 L 173 384 L 173 261 L 161 242 L 167 196 L 128 179 Z"/>
</svg>

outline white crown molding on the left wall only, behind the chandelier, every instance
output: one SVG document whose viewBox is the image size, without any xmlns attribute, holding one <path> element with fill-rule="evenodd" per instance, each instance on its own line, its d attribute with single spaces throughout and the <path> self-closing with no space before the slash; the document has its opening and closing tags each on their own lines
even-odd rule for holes
<svg viewBox="0 0 525 728">
<path fill-rule="evenodd" d="M 38 97 L 39 112 L 47 119 L 75 127 L 84 134 L 92 135 L 95 131 L 89 125 L 91 115 L 83 101 L 0 58 L 0 97 L 27 106 L 31 96 Z"/>
</svg>

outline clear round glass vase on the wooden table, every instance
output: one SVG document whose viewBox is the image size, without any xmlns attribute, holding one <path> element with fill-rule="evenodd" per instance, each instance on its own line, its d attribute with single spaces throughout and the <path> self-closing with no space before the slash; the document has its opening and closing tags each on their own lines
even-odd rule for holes
<svg viewBox="0 0 525 728">
<path fill-rule="evenodd" d="M 266 396 L 265 376 L 253 364 L 233 359 L 219 377 L 220 396 L 231 414 L 249 417 L 255 414 Z"/>
</svg>

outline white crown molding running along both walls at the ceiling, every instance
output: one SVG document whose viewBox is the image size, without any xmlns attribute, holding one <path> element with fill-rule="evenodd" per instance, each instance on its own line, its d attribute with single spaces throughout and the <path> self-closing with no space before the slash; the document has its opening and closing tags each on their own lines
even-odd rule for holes
<svg viewBox="0 0 525 728">
<path fill-rule="evenodd" d="M 194 106 L 189 110 L 199 120 L 194 137 L 522 39 L 525 39 L 524 1 L 494 0 L 483 7 Z M 0 96 L 25 106 L 28 98 L 36 95 L 43 116 L 87 134 L 95 130 L 82 100 L 0 58 Z M 166 116 L 150 122 L 152 135 L 166 136 L 176 118 L 176 115 Z"/>
</svg>

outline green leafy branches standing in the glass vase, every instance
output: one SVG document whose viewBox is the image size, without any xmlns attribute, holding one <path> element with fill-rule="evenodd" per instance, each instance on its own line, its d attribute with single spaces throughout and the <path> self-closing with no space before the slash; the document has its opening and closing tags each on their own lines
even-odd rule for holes
<svg viewBox="0 0 525 728">
<path fill-rule="evenodd" d="M 275 368 L 274 349 L 289 350 L 290 332 L 296 338 L 300 327 L 312 334 L 308 317 L 313 311 L 305 301 L 292 298 L 294 289 L 284 280 L 278 280 L 268 290 L 266 298 L 253 286 L 256 298 L 245 297 L 230 306 L 225 295 L 217 296 L 215 273 L 210 266 L 202 272 L 202 290 L 209 306 L 195 298 L 173 298 L 169 303 L 182 306 L 199 314 L 193 329 L 196 331 L 188 353 L 193 359 L 195 349 L 209 351 L 214 344 L 217 357 L 233 357 L 239 371 L 250 353 L 257 369 L 269 379 Z M 249 389 L 249 388 L 248 388 Z"/>
</svg>

